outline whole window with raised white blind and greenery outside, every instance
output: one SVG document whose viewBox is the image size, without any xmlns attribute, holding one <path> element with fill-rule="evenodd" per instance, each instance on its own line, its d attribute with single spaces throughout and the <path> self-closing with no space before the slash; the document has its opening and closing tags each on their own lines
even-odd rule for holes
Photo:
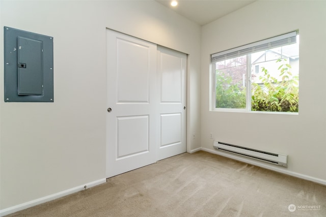
<svg viewBox="0 0 326 217">
<path fill-rule="evenodd" d="M 298 112 L 296 32 L 212 54 L 213 110 Z"/>
</svg>

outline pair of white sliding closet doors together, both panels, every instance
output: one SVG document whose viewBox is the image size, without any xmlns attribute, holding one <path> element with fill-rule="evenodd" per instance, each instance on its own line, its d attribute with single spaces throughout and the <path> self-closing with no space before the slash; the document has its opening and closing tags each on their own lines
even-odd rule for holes
<svg viewBox="0 0 326 217">
<path fill-rule="evenodd" d="M 112 177 L 186 151 L 186 54 L 106 31 L 106 177 Z"/>
</svg>

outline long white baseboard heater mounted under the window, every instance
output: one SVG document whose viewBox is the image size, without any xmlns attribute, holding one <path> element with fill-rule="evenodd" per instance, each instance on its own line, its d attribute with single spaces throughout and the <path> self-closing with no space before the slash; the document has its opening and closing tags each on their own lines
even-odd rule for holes
<svg viewBox="0 0 326 217">
<path fill-rule="evenodd" d="M 230 153 L 238 154 L 240 156 L 287 167 L 287 155 L 285 154 L 271 153 L 219 141 L 214 141 L 213 146 L 218 150 L 227 151 Z"/>
</svg>

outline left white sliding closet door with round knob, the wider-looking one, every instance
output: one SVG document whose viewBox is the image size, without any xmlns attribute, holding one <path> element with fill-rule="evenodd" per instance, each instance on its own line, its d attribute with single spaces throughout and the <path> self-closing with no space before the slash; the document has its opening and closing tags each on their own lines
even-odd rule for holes
<svg viewBox="0 0 326 217">
<path fill-rule="evenodd" d="M 156 162 L 156 45 L 107 29 L 106 177 Z"/>
</svg>

